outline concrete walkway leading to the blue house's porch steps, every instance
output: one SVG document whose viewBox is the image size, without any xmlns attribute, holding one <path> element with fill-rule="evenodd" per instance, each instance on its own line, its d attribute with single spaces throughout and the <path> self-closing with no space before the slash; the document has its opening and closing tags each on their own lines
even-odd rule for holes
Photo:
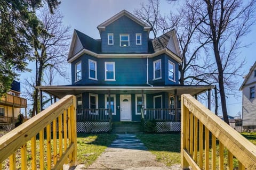
<svg viewBox="0 0 256 170">
<path fill-rule="evenodd" d="M 167 167 L 156 161 L 135 134 L 119 134 L 118 138 L 88 168 L 78 165 L 75 169 L 181 169 L 180 165 Z"/>
</svg>

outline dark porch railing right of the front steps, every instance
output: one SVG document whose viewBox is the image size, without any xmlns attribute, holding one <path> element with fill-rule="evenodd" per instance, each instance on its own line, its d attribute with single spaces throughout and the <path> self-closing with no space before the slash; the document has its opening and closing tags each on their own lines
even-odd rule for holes
<svg viewBox="0 0 256 170">
<path fill-rule="evenodd" d="M 175 109 L 171 108 L 145 108 L 144 118 L 145 120 L 180 122 L 180 108 L 177 111 L 178 113 L 175 113 Z"/>
</svg>

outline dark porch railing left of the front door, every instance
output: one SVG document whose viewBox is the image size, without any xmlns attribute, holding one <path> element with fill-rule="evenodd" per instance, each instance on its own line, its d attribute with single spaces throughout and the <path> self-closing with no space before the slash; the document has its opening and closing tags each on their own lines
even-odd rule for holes
<svg viewBox="0 0 256 170">
<path fill-rule="evenodd" d="M 97 109 L 76 109 L 76 120 L 77 122 L 85 121 L 109 121 L 108 109 L 97 108 Z"/>
</svg>

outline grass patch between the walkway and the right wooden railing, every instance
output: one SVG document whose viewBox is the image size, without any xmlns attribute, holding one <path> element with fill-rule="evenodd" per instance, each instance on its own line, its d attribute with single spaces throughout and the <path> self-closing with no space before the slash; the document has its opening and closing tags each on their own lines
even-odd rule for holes
<svg viewBox="0 0 256 170">
<path fill-rule="evenodd" d="M 159 162 L 167 166 L 180 164 L 180 133 L 138 134 L 137 137 Z"/>
</svg>

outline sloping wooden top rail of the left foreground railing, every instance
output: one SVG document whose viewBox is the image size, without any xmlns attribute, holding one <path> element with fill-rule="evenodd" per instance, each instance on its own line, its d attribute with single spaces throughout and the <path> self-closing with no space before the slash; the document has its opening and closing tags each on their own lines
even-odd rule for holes
<svg viewBox="0 0 256 170">
<path fill-rule="evenodd" d="M 49 122 L 63 112 L 63 110 L 73 104 L 73 96 L 67 95 L 54 103 L 44 111 L 22 123 L 19 128 L 0 138 L 0 162 L 3 162 L 13 152 L 25 145 L 28 140 L 41 131 Z"/>
</svg>

